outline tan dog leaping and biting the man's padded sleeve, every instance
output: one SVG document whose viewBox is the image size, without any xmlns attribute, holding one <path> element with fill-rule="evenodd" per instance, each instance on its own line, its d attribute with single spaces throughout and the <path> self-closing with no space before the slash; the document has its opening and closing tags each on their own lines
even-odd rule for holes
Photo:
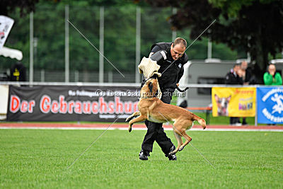
<svg viewBox="0 0 283 189">
<path fill-rule="evenodd" d="M 206 127 L 204 119 L 191 113 L 184 108 L 180 108 L 177 105 L 171 105 L 163 103 L 158 98 L 154 97 L 157 91 L 157 80 L 149 79 L 141 88 L 141 98 L 139 99 L 139 112 L 135 112 L 127 118 L 126 122 L 129 122 L 129 132 L 132 131 L 132 125 L 135 122 L 141 122 L 149 120 L 151 122 L 167 122 L 173 121 L 173 131 L 175 138 L 178 141 L 178 147 L 171 152 L 171 154 L 181 151 L 192 140 L 191 137 L 185 132 L 192 127 L 192 123 L 197 120 L 203 129 Z M 138 116 L 138 117 L 137 117 Z M 135 118 L 137 117 L 137 118 Z M 185 143 L 183 143 L 182 137 L 185 137 Z"/>
</svg>

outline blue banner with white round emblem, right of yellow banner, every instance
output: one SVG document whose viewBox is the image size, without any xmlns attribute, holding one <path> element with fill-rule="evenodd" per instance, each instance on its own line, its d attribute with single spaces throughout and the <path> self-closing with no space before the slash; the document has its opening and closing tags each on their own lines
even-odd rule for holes
<svg viewBox="0 0 283 189">
<path fill-rule="evenodd" d="M 258 87 L 258 123 L 283 124 L 283 87 Z"/>
</svg>

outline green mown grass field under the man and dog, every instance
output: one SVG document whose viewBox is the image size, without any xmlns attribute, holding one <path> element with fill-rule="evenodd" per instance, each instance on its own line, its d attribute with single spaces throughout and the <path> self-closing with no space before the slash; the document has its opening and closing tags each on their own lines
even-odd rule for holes
<svg viewBox="0 0 283 189">
<path fill-rule="evenodd" d="M 189 131 L 192 144 L 168 161 L 155 144 L 138 159 L 146 131 L 0 130 L 1 188 L 282 188 L 282 132 Z M 173 132 L 168 136 L 176 144 Z"/>
</svg>

